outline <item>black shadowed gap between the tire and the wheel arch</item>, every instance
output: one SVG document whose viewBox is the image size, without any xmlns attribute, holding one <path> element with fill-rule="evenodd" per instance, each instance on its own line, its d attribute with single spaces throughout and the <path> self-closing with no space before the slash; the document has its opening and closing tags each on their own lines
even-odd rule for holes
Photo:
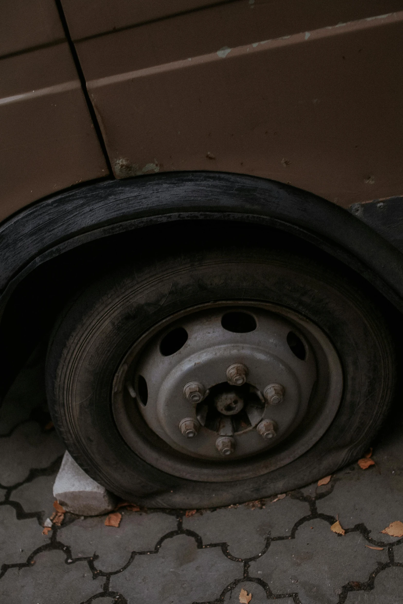
<svg viewBox="0 0 403 604">
<path fill-rule="evenodd" d="M 0 323 L 0 357 L 2 381 L 0 393 L 7 392 L 19 370 L 37 345 L 45 354 L 50 332 L 65 304 L 101 273 L 119 263 L 135 263 L 139 255 L 155 255 L 164 249 L 184 249 L 192 242 L 203 240 L 213 245 L 236 245 L 250 239 L 256 245 L 271 245 L 289 251 L 300 251 L 315 256 L 318 248 L 300 237 L 267 225 L 228 220 L 178 220 L 160 225 L 144 226 L 136 230 L 113 234 L 84 243 L 57 255 L 31 271 L 18 284 L 7 301 Z M 331 265 L 352 271 L 337 257 L 321 251 Z M 388 316 L 398 311 L 363 277 L 356 274 L 369 295 L 378 298 Z"/>
</svg>

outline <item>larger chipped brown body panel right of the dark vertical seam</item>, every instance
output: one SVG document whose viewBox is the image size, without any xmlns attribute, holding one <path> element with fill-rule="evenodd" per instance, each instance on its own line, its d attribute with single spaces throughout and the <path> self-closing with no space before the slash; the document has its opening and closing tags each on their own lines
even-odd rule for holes
<svg viewBox="0 0 403 604">
<path fill-rule="evenodd" d="M 245 173 L 344 207 L 403 193 L 403 13 L 372 18 L 401 5 L 233 2 L 77 42 L 115 176 Z"/>
</svg>

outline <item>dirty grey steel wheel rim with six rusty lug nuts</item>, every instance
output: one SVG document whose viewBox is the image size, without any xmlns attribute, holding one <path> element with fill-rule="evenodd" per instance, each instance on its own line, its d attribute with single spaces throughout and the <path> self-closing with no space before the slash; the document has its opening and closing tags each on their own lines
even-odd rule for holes
<svg viewBox="0 0 403 604">
<path fill-rule="evenodd" d="M 112 387 L 127 445 L 168 474 L 242 480 L 308 451 L 337 413 L 343 373 L 329 338 L 285 307 L 205 304 L 141 336 Z"/>
</svg>

